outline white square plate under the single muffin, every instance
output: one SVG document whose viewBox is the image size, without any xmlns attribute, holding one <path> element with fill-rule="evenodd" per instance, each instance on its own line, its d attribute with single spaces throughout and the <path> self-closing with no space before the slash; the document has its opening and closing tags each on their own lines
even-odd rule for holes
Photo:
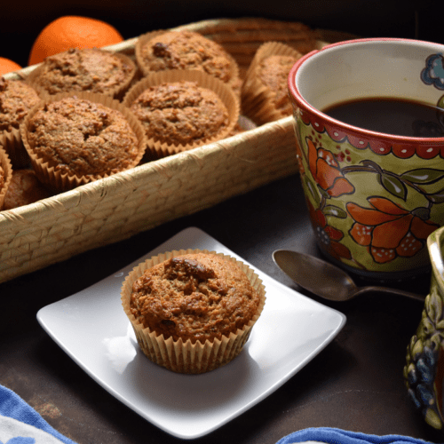
<svg viewBox="0 0 444 444">
<path fill-rule="evenodd" d="M 215 250 L 242 260 L 200 229 L 186 228 L 120 272 L 45 306 L 37 320 L 115 398 L 163 431 L 189 440 L 226 424 L 288 381 L 336 337 L 345 315 L 248 264 L 266 286 L 266 305 L 242 353 L 202 375 L 163 369 L 139 350 L 120 289 L 133 266 L 181 249 Z"/>
</svg>

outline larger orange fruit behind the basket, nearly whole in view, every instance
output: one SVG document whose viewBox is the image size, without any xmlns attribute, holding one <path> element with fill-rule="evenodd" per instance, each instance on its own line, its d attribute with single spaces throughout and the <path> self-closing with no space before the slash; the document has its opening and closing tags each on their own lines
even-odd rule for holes
<svg viewBox="0 0 444 444">
<path fill-rule="evenodd" d="M 47 25 L 37 36 L 28 65 L 35 65 L 52 54 L 70 48 L 101 48 L 123 42 L 123 36 L 105 21 L 66 15 Z"/>
</svg>

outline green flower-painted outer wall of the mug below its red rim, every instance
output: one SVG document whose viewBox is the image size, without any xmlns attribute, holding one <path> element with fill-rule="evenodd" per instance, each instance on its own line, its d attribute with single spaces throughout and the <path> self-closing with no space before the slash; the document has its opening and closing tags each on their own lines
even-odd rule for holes
<svg viewBox="0 0 444 444">
<path fill-rule="evenodd" d="M 403 158 L 393 149 L 376 153 L 367 140 L 354 147 L 329 132 L 337 133 L 298 113 L 297 159 L 321 249 L 362 271 L 424 267 L 426 239 L 443 222 L 441 205 L 431 202 L 443 186 L 439 151 L 434 159 Z"/>
</svg>

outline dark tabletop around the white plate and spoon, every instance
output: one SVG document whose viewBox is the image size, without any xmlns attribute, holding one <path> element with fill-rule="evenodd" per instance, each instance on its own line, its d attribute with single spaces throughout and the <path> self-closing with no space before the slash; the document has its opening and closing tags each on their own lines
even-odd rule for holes
<svg viewBox="0 0 444 444">
<path fill-rule="evenodd" d="M 115 273 L 188 226 L 201 228 L 277 281 L 312 296 L 289 281 L 272 259 L 273 251 L 281 248 L 320 256 L 299 178 L 282 178 L 124 242 L 0 284 L 0 384 L 80 444 L 183 442 L 148 423 L 89 377 L 40 327 L 36 313 Z M 430 275 L 424 275 L 398 285 L 425 295 L 429 281 Z M 191 442 L 273 444 L 291 432 L 318 426 L 443 441 L 408 400 L 402 378 L 406 347 L 423 304 L 383 294 L 346 303 L 319 302 L 345 313 L 347 321 L 337 337 L 265 400 Z"/>
</svg>

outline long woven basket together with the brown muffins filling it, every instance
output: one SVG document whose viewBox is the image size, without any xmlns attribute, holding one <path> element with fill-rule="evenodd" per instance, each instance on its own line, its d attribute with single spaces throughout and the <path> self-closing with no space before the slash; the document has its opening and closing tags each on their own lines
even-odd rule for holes
<svg viewBox="0 0 444 444">
<path fill-rule="evenodd" d="M 0 281 L 296 173 L 285 73 L 319 39 L 301 23 L 204 20 L 4 75 Z M 39 239 L 19 263 L 31 219 Z M 41 238 L 59 219 L 63 249 Z"/>
</svg>

